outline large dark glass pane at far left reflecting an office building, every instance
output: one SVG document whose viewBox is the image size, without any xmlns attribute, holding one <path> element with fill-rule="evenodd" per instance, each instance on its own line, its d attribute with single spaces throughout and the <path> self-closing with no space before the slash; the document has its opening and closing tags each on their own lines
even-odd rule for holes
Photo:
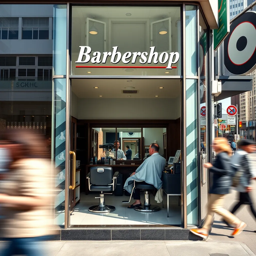
<svg viewBox="0 0 256 256">
<path fill-rule="evenodd" d="M 0 130 L 39 132 L 45 136 L 49 159 L 55 141 L 51 138 L 53 16 L 54 5 L 0 5 L 0 20 L 8 21 L 5 25 L 10 32 L 0 47 Z M 63 222 L 64 218 L 57 224 Z"/>
</svg>

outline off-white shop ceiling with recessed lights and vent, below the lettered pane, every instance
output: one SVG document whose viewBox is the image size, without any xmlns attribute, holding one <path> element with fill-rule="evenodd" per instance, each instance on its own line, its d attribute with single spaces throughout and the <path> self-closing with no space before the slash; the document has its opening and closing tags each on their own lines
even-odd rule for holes
<svg viewBox="0 0 256 256">
<path fill-rule="evenodd" d="M 72 92 L 78 98 L 177 98 L 180 79 L 71 79 Z M 99 87 L 95 89 L 94 87 Z M 123 94 L 125 87 L 135 87 L 138 94 Z M 159 87 L 164 87 L 159 89 Z M 102 95 L 103 97 L 99 97 Z M 131 95 L 131 97 L 127 97 Z M 159 97 L 155 97 L 155 96 Z"/>
</svg>

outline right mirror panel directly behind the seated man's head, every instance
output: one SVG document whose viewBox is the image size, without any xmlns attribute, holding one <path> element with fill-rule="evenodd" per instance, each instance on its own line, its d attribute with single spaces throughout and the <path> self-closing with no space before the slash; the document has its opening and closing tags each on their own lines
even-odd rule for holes
<svg viewBox="0 0 256 256">
<path fill-rule="evenodd" d="M 152 143 L 159 145 L 159 155 L 166 158 L 166 128 L 143 128 L 143 159 L 149 157 L 149 147 Z"/>
</svg>

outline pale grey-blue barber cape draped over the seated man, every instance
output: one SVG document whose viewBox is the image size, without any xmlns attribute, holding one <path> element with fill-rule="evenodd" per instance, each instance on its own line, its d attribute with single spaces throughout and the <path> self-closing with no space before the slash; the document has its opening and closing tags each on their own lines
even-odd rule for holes
<svg viewBox="0 0 256 256">
<path fill-rule="evenodd" d="M 154 185 L 155 188 L 160 189 L 163 184 L 161 177 L 165 165 L 166 160 L 158 153 L 154 153 L 138 167 L 133 176 L 126 180 L 124 189 L 131 194 L 134 180 L 138 182 L 145 181 L 148 184 Z"/>
</svg>

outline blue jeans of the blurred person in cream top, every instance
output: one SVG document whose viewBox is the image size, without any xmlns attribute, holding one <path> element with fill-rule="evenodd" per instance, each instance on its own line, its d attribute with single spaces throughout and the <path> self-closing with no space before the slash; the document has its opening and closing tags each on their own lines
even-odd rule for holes
<svg viewBox="0 0 256 256">
<path fill-rule="evenodd" d="M 47 237 L 29 237 L 29 238 L 7 238 L 7 247 L 0 252 L 1 256 L 27 255 L 27 256 L 45 256 L 44 245 L 41 241 L 47 240 Z"/>
</svg>

